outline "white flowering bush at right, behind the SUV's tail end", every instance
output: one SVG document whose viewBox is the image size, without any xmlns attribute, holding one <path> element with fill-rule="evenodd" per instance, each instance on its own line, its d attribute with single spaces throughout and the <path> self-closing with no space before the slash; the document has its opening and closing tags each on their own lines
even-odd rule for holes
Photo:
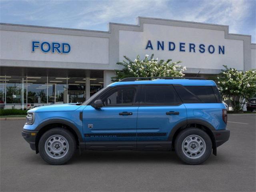
<svg viewBox="0 0 256 192">
<path fill-rule="evenodd" d="M 230 99 L 235 112 L 241 111 L 246 100 L 256 94 L 256 70 L 246 72 L 225 66 L 217 85 L 222 96 Z"/>
</svg>

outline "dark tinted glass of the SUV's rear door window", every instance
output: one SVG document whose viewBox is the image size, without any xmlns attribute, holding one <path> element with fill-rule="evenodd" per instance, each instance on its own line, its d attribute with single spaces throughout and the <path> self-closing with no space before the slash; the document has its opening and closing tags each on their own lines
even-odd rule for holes
<svg viewBox="0 0 256 192">
<path fill-rule="evenodd" d="M 179 105 L 181 100 L 172 85 L 142 86 L 140 105 Z"/>
</svg>

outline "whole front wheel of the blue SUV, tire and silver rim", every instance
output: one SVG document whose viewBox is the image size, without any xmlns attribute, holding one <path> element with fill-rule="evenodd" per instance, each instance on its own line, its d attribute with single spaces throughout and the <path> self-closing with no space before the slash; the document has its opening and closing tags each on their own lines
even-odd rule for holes
<svg viewBox="0 0 256 192">
<path fill-rule="evenodd" d="M 65 128 L 46 131 L 39 140 L 38 150 L 41 157 L 52 165 L 68 162 L 76 151 L 76 139 Z"/>
</svg>

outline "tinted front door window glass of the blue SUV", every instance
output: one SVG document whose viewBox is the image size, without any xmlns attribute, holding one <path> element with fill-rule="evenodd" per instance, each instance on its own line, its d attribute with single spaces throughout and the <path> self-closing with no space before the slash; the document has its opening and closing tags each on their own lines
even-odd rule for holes
<svg viewBox="0 0 256 192">
<path fill-rule="evenodd" d="M 104 106 L 132 106 L 136 94 L 135 87 L 119 87 L 107 92 L 102 102 Z"/>
</svg>

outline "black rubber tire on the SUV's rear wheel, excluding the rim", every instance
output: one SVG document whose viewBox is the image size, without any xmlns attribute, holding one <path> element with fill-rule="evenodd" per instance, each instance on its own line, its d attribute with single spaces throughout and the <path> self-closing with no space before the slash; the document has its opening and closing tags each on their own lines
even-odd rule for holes
<svg viewBox="0 0 256 192">
<path fill-rule="evenodd" d="M 190 135 L 200 136 L 201 138 L 203 138 L 203 140 L 205 142 L 205 151 L 204 151 L 204 153 L 202 152 L 203 155 L 198 158 L 193 158 L 193 157 L 191 157 L 190 154 L 188 154 L 188 155 L 190 155 L 190 158 L 188 158 L 188 156 L 186 154 L 184 154 L 186 152 L 185 148 L 184 148 L 184 150 L 182 150 L 183 141 Z M 186 143 L 186 142 L 184 142 L 184 143 Z M 180 158 L 180 160 L 182 160 L 186 164 L 197 165 L 197 164 L 201 164 L 204 161 L 206 161 L 208 159 L 208 157 L 210 156 L 210 154 L 212 153 L 212 141 L 211 141 L 211 138 L 208 136 L 208 134 L 206 132 L 204 132 L 203 130 L 198 129 L 198 128 L 186 128 L 185 130 L 180 132 L 178 134 L 178 136 L 176 137 L 176 140 L 174 143 L 174 148 L 175 148 L 175 152 L 176 152 L 177 156 Z M 200 152 L 199 152 L 199 154 L 200 154 Z"/>
</svg>

